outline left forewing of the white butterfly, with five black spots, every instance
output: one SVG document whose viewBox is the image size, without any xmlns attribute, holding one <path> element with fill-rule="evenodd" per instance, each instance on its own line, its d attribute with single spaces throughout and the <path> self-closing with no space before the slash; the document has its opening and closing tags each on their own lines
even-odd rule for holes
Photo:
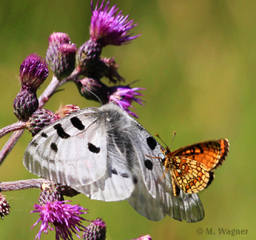
<svg viewBox="0 0 256 240">
<path fill-rule="evenodd" d="M 67 186 L 85 186 L 106 173 L 106 113 L 79 110 L 40 131 L 24 155 L 26 168 Z"/>
</svg>

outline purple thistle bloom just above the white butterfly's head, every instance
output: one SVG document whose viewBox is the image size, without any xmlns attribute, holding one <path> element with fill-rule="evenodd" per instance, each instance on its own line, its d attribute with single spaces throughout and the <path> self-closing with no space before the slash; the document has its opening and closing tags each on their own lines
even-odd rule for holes
<svg viewBox="0 0 256 240">
<path fill-rule="evenodd" d="M 146 90 L 145 88 L 141 87 L 134 87 L 130 88 L 130 86 L 114 86 L 110 87 L 110 96 L 109 96 L 109 102 L 113 102 L 120 106 L 123 110 L 125 110 L 128 114 L 134 116 L 135 118 L 138 118 L 137 114 L 134 114 L 131 110 L 129 110 L 129 107 L 133 108 L 131 106 L 131 103 L 133 101 L 138 102 L 138 104 L 142 105 L 142 99 L 136 98 L 137 96 L 144 96 L 141 93 L 138 93 L 138 90 Z"/>
</svg>

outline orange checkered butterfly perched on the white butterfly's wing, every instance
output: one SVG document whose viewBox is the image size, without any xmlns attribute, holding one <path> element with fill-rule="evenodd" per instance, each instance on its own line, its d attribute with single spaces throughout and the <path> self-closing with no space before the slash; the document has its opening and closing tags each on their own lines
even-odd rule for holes
<svg viewBox="0 0 256 240">
<path fill-rule="evenodd" d="M 220 139 L 198 142 L 173 152 L 169 147 L 165 149 L 161 147 L 165 158 L 150 158 L 158 158 L 166 167 L 162 178 L 170 171 L 174 196 L 178 196 L 180 189 L 188 194 L 195 194 L 210 185 L 214 179 L 214 170 L 224 162 L 229 146 L 227 139 Z"/>
</svg>

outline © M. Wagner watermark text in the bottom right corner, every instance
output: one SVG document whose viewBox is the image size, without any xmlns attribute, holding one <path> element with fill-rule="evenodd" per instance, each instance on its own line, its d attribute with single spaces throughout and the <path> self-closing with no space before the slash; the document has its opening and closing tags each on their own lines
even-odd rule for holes
<svg viewBox="0 0 256 240">
<path fill-rule="evenodd" d="M 235 236 L 235 235 L 247 235 L 248 234 L 248 229 L 229 229 L 229 228 L 224 228 L 224 227 L 218 227 L 217 230 L 214 230 L 212 227 L 208 228 L 206 227 L 205 230 L 203 230 L 201 227 L 198 228 L 197 233 L 199 235 L 201 234 L 206 234 L 206 235 L 230 235 L 230 236 Z"/>
</svg>

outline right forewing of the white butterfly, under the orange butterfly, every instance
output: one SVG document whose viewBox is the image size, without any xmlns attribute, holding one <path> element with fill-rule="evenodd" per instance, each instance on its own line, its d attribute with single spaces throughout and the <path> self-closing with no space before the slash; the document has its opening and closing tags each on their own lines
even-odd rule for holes
<svg viewBox="0 0 256 240">
<path fill-rule="evenodd" d="M 134 122 L 134 135 L 136 136 L 136 138 L 134 138 L 134 144 L 136 144 L 138 149 L 142 152 L 142 155 L 138 153 L 138 162 L 140 163 L 146 190 L 156 199 L 158 206 L 162 206 L 162 212 L 169 214 L 170 217 L 180 221 L 186 220 L 186 222 L 198 222 L 202 220 L 202 218 L 204 218 L 204 210 L 198 195 L 185 194 L 181 191 L 178 197 L 174 196 L 170 172 L 166 174 L 165 178 L 162 178 L 165 167 L 162 166 L 158 159 L 148 158 L 146 156 L 161 157 L 162 152 L 159 143 L 138 122 L 133 118 L 132 120 Z M 160 181 L 161 178 L 162 180 Z M 141 194 L 138 193 L 137 195 L 139 196 Z M 143 204 L 142 198 L 138 198 L 138 196 L 134 193 L 133 198 L 135 199 L 130 199 L 129 202 L 131 204 L 135 202 L 136 204 L 133 203 L 134 206 L 138 206 L 140 202 Z M 144 194 L 144 196 L 146 196 L 146 194 Z M 150 196 L 148 196 L 148 199 L 150 199 Z M 148 210 L 156 212 L 158 209 L 155 207 L 156 202 L 152 200 L 144 202 L 144 204 L 148 205 L 145 206 Z M 138 210 L 141 209 L 141 207 L 137 208 Z M 146 211 L 144 214 L 147 214 Z M 155 215 L 158 216 L 156 213 Z"/>
</svg>

